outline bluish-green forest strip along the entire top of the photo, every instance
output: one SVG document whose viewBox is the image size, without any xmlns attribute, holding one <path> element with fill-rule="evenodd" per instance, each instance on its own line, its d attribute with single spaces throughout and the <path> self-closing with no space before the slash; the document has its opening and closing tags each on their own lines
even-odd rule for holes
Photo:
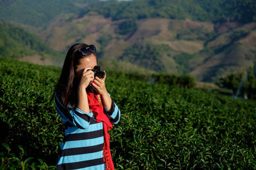
<svg viewBox="0 0 256 170">
<path fill-rule="evenodd" d="M 56 8 L 58 6 L 58 8 Z M 99 8 L 100 7 L 100 8 Z M 82 17 L 96 11 L 113 20 L 124 18 L 172 18 L 241 23 L 256 21 L 254 0 L 133 0 L 133 1 L 0 1 L 0 19 L 13 20 L 35 27 L 44 27 L 60 15 L 75 14 Z"/>
</svg>

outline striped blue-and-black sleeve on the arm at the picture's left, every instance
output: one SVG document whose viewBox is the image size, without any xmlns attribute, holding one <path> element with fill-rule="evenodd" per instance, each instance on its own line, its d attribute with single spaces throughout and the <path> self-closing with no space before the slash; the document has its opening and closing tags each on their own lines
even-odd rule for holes
<svg viewBox="0 0 256 170">
<path fill-rule="evenodd" d="M 67 110 L 65 106 L 60 102 L 55 92 L 55 105 L 57 112 L 61 115 L 63 124 L 68 123 L 72 124 L 79 129 L 86 129 L 90 124 L 90 118 L 93 117 L 92 111 L 90 113 L 85 113 L 83 110 L 80 110 L 76 107 L 75 110 Z"/>
</svg>

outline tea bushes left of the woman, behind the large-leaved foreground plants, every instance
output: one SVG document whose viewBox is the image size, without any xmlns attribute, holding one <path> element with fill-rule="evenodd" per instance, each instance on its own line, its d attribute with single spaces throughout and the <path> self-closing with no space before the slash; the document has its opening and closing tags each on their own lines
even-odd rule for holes
<svg viewBox="0 0 256 170">
<path fill-rule="evenodd" d="M 0 71 L 0 118 L 6 129 L 1 142 L 14 152 L 22 145 L 31 157 L 52 160 L 49 155 L 56 157 L 63 138 L 61 120 L 51 102 L 60 69 L 1 58 Z"/>
</svg>

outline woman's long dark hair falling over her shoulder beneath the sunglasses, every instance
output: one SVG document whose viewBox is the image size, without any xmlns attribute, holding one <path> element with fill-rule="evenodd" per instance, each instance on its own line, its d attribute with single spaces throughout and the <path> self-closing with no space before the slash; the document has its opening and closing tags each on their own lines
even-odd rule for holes
<svg viewBox="0 0 256 170">
<path fill-rule="evenodd" d="M 75 78 L 75 70 L 79 64 L 79 59 L 88 57 L 92 53 L 83 55 L 79 52 L 81 48 L 87 46 L 84 43 L 77 43 L 70 46 L 62 67 L 60 79 L 54 90 L 54 94 L 56 92 L 58 99 L 61 99 L 61 102 L 67 109 L 69 109 L 69 104 L 74 108 L 77 103 L 77 87 L 79 82 Z M 93 54 L 97 56 L 96 53 Z"/>
</svg>

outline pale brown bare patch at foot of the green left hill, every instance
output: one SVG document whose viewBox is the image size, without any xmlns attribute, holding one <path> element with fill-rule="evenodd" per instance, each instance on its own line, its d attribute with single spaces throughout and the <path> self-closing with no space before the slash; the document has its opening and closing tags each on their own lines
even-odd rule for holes
<svg viewBox="0 0 256 170">
<path fill-rule="evenodd" d="M 24 62 L 30 62 L 33 64 L 39 64 L 42 66 L 53 66 L 54 65 L 51 60 L 44 59 L 41 55 L 27 56 L 27 57 L 20 58 L 18 60 L 24 61 Z"/>
</svg>

